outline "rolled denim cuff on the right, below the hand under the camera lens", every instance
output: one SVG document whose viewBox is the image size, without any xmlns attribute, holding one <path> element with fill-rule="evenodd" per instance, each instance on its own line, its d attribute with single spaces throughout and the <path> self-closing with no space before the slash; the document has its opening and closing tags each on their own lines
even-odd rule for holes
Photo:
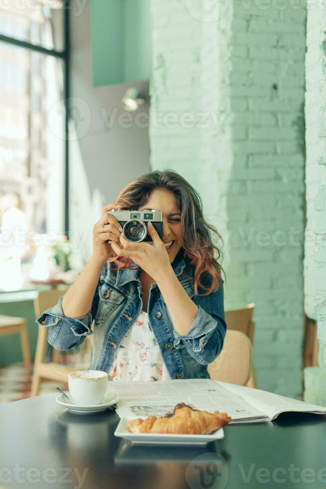
<svg viewBox="0 0 326 489">
<path fill-rule="evenodd" d="M 191 324 L 189 331 L 185 335 L 180 335 L 174 331 L 174 348 L 188 346 L 192 351 L 202 352 L 207 341 L 217 328 L 217 321 L 201 306 L 198 306 L 197 315 Z"/>
</svg>

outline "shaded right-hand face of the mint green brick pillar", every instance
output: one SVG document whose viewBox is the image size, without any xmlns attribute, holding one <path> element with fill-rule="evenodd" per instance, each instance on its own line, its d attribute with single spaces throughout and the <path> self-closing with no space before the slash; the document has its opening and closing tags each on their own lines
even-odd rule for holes
<svg viewBox="0 0 326 489">
<path fill-rule="evenodd" d="M 233 2 L 227 305 L 256 303 L 258 385 L 299 397 L 306 11 L 259 5 Z"/>
</svg>

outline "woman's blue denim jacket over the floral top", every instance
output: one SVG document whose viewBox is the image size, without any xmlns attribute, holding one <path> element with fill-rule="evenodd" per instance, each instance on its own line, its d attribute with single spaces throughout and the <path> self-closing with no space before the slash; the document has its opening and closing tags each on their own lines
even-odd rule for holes
<svg viewBox="0 0 326 489">
<path fill-rule="evenodd" d="M 197 315 L 187 334 L 179 335 L 173 328 L 161 291 L 153 283 L 148 302 L 149 323 L 171 379 L 209 378 L 207 365 L 220 353 L 226 332 L 223 280 L 216 292 L 195 296 L 194 268 L 187 258 L 175 258 L 172 267 L 181 285 L 198 306 Z M 65 316 L 60 297 L 55 306 L 36 319 L 38 324 L 49 328 L 50 345 L 57 350 L 67 350 L 80 345 L 86 335 L 93 334 L 89 368 L 109 372 L 117 348 L 142 310 L 139 274 L 140 268 L 116 270 L 106 263 L 91 310 L 82 317 Z M 94 331 L 91 329 L 93 319 Z"/>
</svg>

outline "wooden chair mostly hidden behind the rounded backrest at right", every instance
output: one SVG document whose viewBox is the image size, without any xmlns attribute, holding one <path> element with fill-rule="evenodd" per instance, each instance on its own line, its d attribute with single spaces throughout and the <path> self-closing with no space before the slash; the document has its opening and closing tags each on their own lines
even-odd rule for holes
<svg viewBox="0 0 326 489">
<path fill-rule="evenodd" d="M 225 311 L 225 321 L 227 329 L 230 331 L 241 331 L 250 339 L 251 344 L 254 342 L 255 323 L 252 320 L 255 304 L 248 304 L 243 309 L 232 309 Z M 251 376 L 248 381 L 248 387 L 256 388 L 255 370 L 252 365 Z"/>
</svg>

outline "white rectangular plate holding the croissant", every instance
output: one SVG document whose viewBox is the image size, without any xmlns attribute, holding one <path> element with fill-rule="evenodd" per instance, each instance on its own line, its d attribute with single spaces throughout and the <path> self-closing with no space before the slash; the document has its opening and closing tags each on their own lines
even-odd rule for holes
<svg viewBox="0 0 326 489">
<path fill-rule="evenodd" d="M 210 435 L 166 435 L 163 433 L 130 433 L 128 422 L 134 418 L 121 418 L 114 435 L 137 445 L 206 445 L 224 438 L 223 428 Z"/>
</svg>

